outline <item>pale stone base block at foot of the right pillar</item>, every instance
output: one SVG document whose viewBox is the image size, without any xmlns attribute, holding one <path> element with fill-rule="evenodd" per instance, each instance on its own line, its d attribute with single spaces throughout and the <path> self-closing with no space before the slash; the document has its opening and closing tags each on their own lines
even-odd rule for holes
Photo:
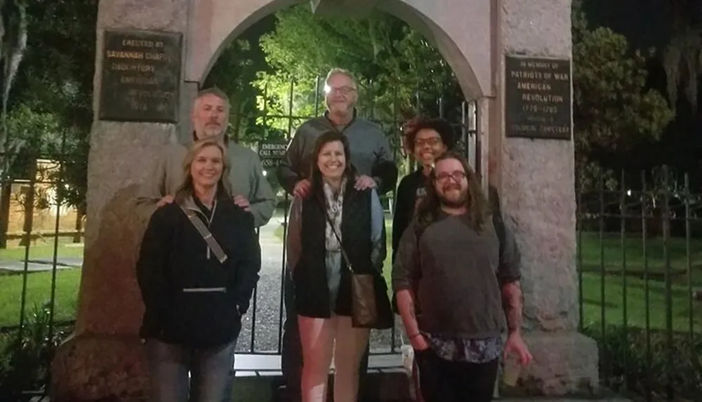
<svg viewBox="0 0 702 402">
<path fill-rule="evenodd" d="M 531 332 L 524 340 L 534 361 L 504 396 L 595 396 L 600 394 L 597 342 L 577 332 Z"/>
</svg>

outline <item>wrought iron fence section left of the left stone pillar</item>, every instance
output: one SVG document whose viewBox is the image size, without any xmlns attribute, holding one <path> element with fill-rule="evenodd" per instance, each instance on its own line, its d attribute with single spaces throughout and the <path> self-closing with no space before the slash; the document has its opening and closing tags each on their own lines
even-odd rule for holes
<svg viewBox="0 0 702 402">
<path fill-rule="evenodd" d="M 82 264 L 84 216 L 64 190 L 73 184 L 67 165 L 85 155 L 66 152 L 65 132 L 53 136 L 53 150 L 42 144 L 51 135 L 38 137 L 0 154 L 0 394 L 8 398 L 46 383 L 53 350 L 74 325 Z"/>
</svg>

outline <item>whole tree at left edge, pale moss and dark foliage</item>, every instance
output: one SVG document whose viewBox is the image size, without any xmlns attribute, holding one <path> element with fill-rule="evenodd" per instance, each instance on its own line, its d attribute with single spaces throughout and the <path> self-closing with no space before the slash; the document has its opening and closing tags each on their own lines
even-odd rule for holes
<svg viewBox="0 0 702 402">
<path fill-rule="evenodd" d="M 54 180 L 62 183 L 57 186 L 59 199 L 78 209 L 79 225 L 85 211 L 88 135 L 93 120 L 98 4 L 90 0 L 0 0 L 0 8 L 3 27 L 11 28 L 0 29 L 4 34 L 4 77 L 11 78 L 3 82 L 6 115 L 15 109 L 29 108 L 37 115 L 53 115 L 60 127 L 52 133 L 38 133 L 32 143 L 22 142 L 22 136 L 12 130 L 3 130 L 0 147 L 10 152 L 5 153 L 9 158 L 0 161 L 4 163 L 0 173 L 10 180 L 21 174 L 21 169 L 15 170 L 20 165 L 10 159 L 25 154 L 62 161 L 62 169 L 53 173 L 60 175 Z M 21 67 L 18 60 L 22 60 Z M 45 138 L 57 133 L 62 138 L 59 142 Z M 54 147 L 48 149 L 47 141 Z M 0 247 L 5 245 L 8 223 L 7 182 L 1 196 Z"/>
</svg>

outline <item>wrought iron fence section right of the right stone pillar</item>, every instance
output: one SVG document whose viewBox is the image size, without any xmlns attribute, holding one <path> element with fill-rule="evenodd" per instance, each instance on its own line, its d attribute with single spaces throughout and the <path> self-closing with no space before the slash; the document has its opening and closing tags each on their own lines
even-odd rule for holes
<svg viewBox="0 0 702 402">
<path fill-rule="evenodd" d="M 584 180 L 583 180 L 584 181 Z M 578 190 L 580 328 L 604 385 L 647 401 L 702 392 L 702 192 L 667 167 Z"/>
</svg>

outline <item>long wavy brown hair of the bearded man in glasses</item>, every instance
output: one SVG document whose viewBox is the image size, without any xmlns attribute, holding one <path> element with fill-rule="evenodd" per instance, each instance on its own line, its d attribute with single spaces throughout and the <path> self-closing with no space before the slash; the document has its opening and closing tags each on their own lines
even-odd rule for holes
<svg viewBox="0 0 702 402">
<path fill-rule="evenodd" d="M 455 159 L 461 162 L 463 170 L 465 170 L 466 180 L 468 180 L 468 198 L 466 199 L 466 207 L 468 209 L 468 225 L 480 233 L 485 228 L 486 222 L 489 221 L 490 208 L 485 193 L 480 186 L 480 180 L 468 161 L 460 154 L 448 151 L 444 152 L 435 161 L 435 166 L 439 161 L 446 159 Z M 436 222 L 441 211 L 441 199 L 436 189 L 437 176 L 436 168 L 432 169 L 429 180 L 427 182 L 427 195 L 420 201 L 417 207 L 416 231 L 421 233 L 429 225 Z"/>
</svg>

